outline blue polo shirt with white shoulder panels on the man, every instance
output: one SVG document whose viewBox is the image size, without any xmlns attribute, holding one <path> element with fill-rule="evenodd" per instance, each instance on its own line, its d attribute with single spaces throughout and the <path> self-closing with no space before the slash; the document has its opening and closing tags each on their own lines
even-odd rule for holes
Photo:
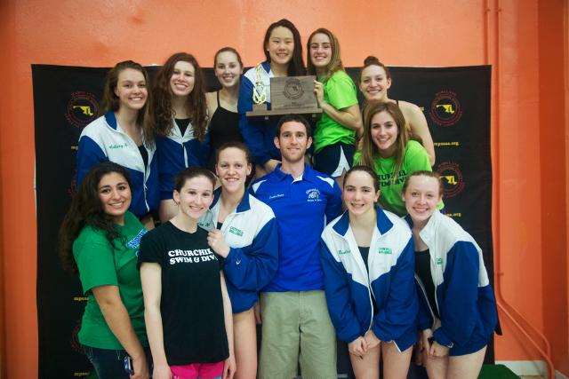
<svg viewBox="0 0 569 379">
<path fill-rule="evenodd" d="M 251 186 L 252 194 L 273 209 L 278 225 L 278 270 L 262 291 L 323 289 L 320 234 L 327 222 L 341 214 L 340 187 L 307 164 L 300 178 L 280 167 Z"/>
</svg>

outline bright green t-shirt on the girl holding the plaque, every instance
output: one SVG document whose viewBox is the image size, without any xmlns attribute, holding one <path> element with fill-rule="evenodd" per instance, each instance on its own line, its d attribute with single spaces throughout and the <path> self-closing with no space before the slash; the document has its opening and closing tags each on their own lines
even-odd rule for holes
<svg viewBox="0 0 569 379">
<path fill-rule="evenodd" d="M 324 78 L 319 78 L 322 82 Z M 336 71 L 324 84 L 325 102 L 335 107 L 343 109 L 357 105 L 356 84 L 344 71 Z M 356 132 L 340 123 L 333 121 L 325 112 L 322 113 L 317 123 L 317 130 L 314 133 L 314 153 L 318 153 L 325 146 L 333 145 L 337 142 L 352 145 L 356 141 Z"/>
</svg>

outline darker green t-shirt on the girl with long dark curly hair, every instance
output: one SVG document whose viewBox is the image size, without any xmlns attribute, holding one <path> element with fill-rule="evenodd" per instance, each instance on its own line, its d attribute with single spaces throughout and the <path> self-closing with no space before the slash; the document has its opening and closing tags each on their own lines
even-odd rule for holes
<svg viewBox="0 0 569 379">
<path fill-rule="evenodd" d="M 108 243 L 104 232 L 90 225 L 85 226 L 73 242 L 79 279 L 84 294 L 89 297 L 79 330 L 79 342 L 99 349 L 124 349 L 108 328 L 91 290 L 98 286 L 118 286 L 132 328 L 140 343 L 148 346 L 140 272 L 136 268 L 140 238 L 146 229 L 131 212 L 124 215 L 124 225 L 116 226 L 122 238 L 116 240 L 115 248 Z"/>
</svg>

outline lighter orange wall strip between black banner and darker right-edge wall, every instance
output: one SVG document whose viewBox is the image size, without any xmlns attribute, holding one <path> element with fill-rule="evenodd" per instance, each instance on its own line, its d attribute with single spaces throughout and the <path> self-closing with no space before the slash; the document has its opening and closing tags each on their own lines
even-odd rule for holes
<svg viewBox="0 0 569 379">
<path fill-rule="evenodd" d="M 493 59 L 493 112 L 498 114 L 493 123 L 493 228 L 501 292 L 527 320 L 542 329 L 536 4 L 502 1 L 501 12 L 495 16 L 498 36 L 492 42 L 497 49 Z M 534 205 L 527 206 L 530 203 Z M 497 359 L 522 359 L 525 355 L 539 359 L 517 329 L 503 319 L 505 337 L 496 339 Z"/>
</svg>

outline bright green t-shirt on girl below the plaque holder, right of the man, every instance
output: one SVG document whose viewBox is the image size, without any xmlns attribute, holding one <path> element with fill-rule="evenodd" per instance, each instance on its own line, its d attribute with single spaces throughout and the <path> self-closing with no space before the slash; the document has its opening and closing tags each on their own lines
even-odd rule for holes
<svg viewBox="0 0 569 379">
<path fill-rule="evenodd" d="M 361 162 L 361 152 L 354 154 L 354 165 Z M 395 175 L 395 157 L 381 158 L 380 155 L 373 159 L 373 170 L 380 179 L 380 204 L 383 209 L 387 209 L 398 216 L 405 216 L 405 201 L 401 198 L 403 185 L 407 176 L 413 171 L 428 170 L 431 171 L 429 155 L 421 144 L 411 140 L 405 146 L 405 155 L 401 164 L 401 169 L 396 177 Z M 394 178 L 396 178 L 394 180 Z M 437 209 L 443 209 L 445 204 L 441 200 Z"/>
</svg>

